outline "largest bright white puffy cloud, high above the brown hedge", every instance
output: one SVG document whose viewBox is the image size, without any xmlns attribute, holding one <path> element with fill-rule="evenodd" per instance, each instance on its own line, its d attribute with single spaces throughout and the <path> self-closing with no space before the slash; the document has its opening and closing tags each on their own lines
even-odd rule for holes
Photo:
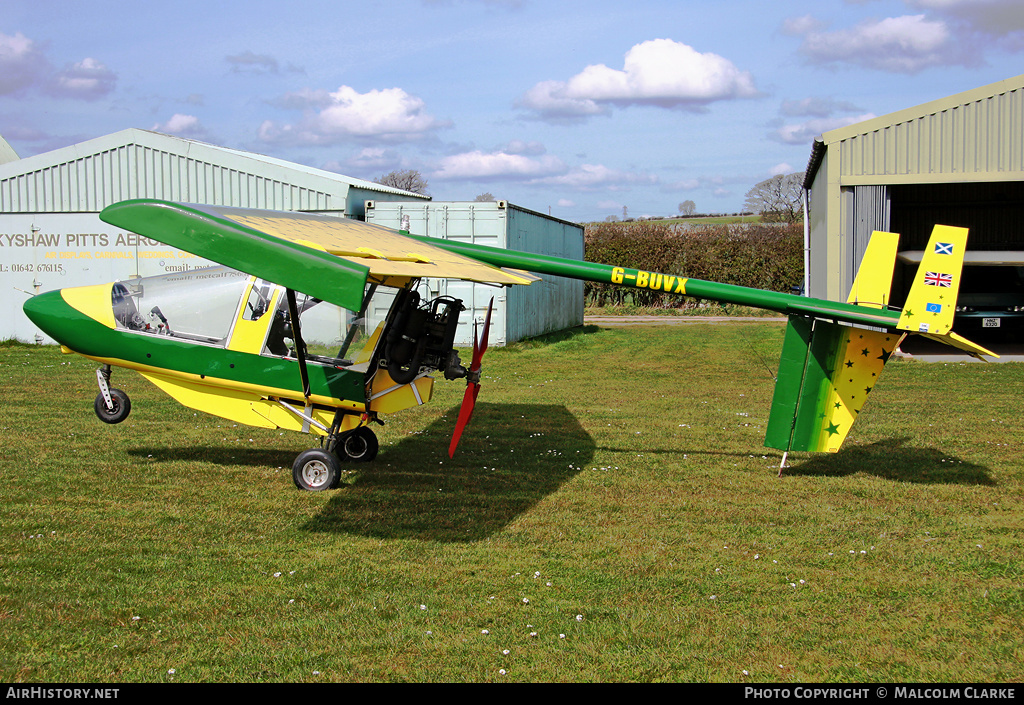
<svg viewBox="0 0 1024 705">
<path fill-rule="evenodd" d="M 517 105 L 558 121 L 607 114 L 611 106 L 699 112 L 716 100 L 759 94 L 751 74 L 728 59 L 671 39 L 654 39 L 631 48 L 622 70 L 588 66 L 567 81 L 538 83 Z"/>
</svg>

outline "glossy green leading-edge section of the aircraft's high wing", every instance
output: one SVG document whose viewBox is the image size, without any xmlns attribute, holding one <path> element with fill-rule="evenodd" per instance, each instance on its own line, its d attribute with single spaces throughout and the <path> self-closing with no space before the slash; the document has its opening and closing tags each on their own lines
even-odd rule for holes
<svg viewBox="0 0 1024 705">
<path fill-rule="evenodd" d="M 99 214 L 104 222 L 241 272 L 358 310 L 369 269 L 223 218 L 202 206 L 123 201 Z"/>
</svg>

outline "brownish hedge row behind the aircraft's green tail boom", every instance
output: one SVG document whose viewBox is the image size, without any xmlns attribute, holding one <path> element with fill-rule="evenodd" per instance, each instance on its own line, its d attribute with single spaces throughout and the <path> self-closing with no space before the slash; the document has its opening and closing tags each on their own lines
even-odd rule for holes
<svg viewBox="0 0 1024 705">
<path fill-rule="evenodd" d="M 725 284 L 791 291 L 804 279 L 803 225 L 587 225 L 586 259 Z M 587 304 L 685 308 L 693 299 L 609 284 L 586 285 Z"/>
</svg>

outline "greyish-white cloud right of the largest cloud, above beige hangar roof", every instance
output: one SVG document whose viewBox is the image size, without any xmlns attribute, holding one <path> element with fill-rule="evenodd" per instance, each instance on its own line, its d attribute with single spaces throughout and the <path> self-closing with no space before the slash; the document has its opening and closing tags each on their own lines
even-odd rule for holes
<svg viewBox="0 0 1024 705">
<path fill-rule="evenodd" d="M 826 32 L 807 22 L 793 31 L 804 38 L 801 52 L 813 64 L 852 64 L 879 71 L 915 74 L 937 66 L 976 64 L 946 24 L 924 14 L 863 22 Z M 787 26 L 788 29 L 788 26 Z"/>
</svg>

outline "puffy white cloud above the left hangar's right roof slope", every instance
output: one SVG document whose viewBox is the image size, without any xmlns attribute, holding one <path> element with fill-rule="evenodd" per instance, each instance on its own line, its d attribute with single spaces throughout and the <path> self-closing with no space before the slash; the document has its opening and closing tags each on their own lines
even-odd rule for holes
<svg viewBox="0 0 1024 705">
<path fill-rule="evenodd" d="M 451 126 L 426 112 L 426 103 L 401 88 L 359 93 L 350 86 L 338 90 L 305 90 L 283 99 L 289 108 L 303 107 L 307 115 L 298 124 L 265 121 L 259 135 L 269 142 L 336 144 L 348 139 L 407 141 Z"/>
</svg>

